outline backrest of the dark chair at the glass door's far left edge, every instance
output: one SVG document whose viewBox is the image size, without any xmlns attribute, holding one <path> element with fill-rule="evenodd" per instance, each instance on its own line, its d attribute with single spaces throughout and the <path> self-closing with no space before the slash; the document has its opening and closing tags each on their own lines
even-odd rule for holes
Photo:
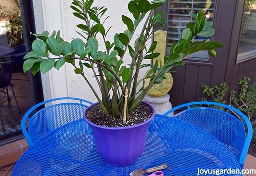
<svg viewBox="0 0 256 176">
<path fill-rule="evenodd" d="M 0 64 L 0 88 L 5 88 L 11 83 L 12 62 Z"/>
</svg>

